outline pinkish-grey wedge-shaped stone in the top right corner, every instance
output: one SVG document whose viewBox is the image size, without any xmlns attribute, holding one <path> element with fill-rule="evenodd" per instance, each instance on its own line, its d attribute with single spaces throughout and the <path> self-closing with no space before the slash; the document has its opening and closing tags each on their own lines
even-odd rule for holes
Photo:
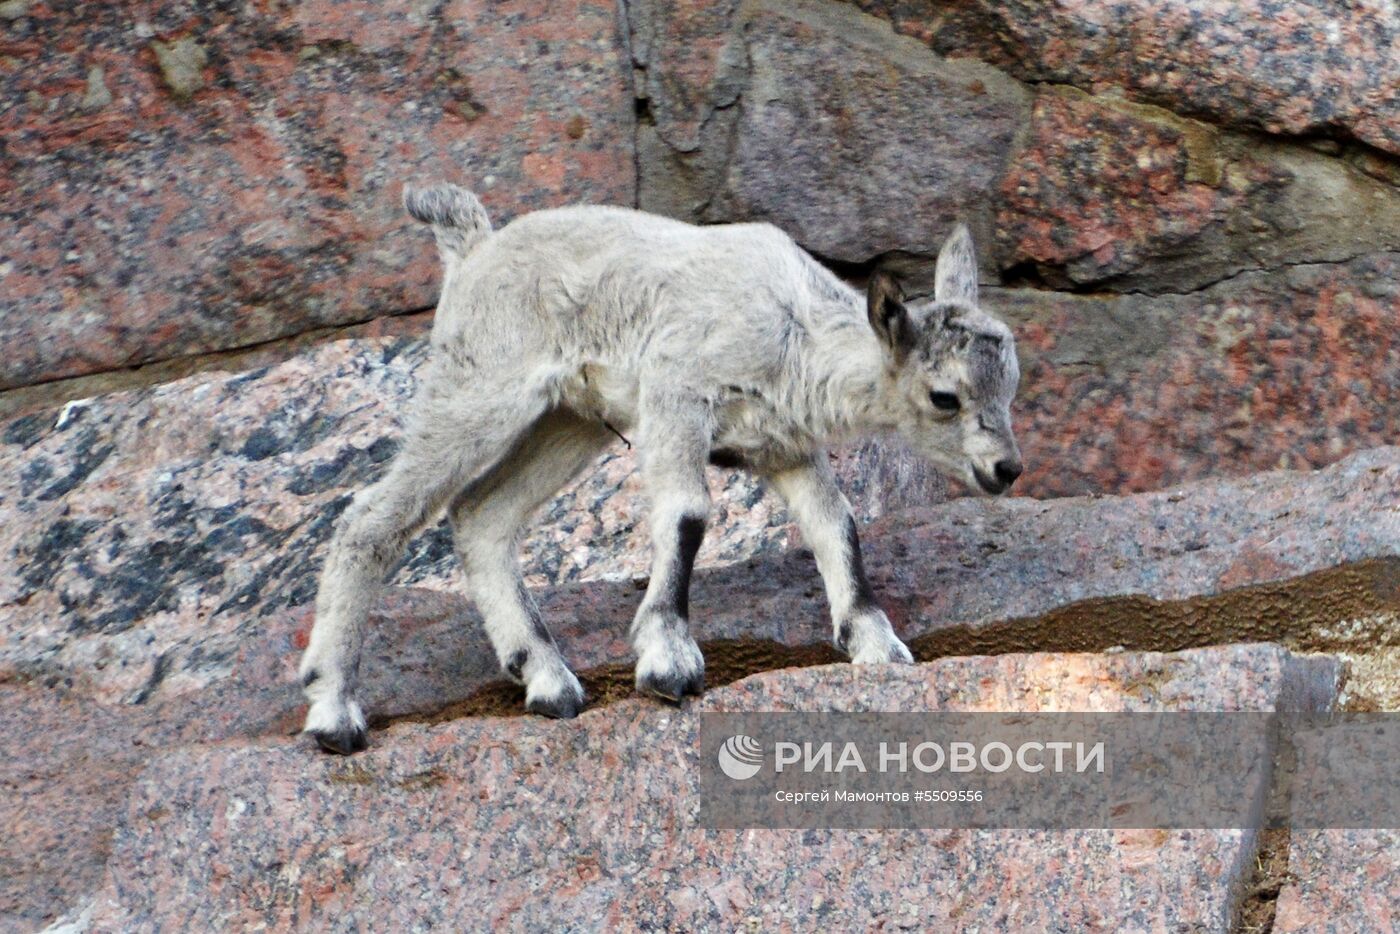
<svg viewBox="0 0 1400 934">
<path fill-rule="evenodd" d="M 1400 17 L 1326 0 L 860 0 L 949 56 L 1028 81 L 1137 99 L 1270 133 L 1400 153 Z"/>
</svg>

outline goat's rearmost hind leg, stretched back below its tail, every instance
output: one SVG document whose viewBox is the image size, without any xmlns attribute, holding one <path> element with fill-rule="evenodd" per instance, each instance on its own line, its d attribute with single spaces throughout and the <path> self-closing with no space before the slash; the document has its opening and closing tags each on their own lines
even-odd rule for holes
<svg viewBox="0 0 1400 934">
<path fill-rule="evenodd" d="M 473 389 L 462 398 L 433 374 L 424 382 L 403 448 L 384 479 L 346 508 L 326 555 L 300 668 L 309 703 L 305 732 L 323 749 L 349 755 L 367 744 L 356 700 L 360 651 L 385 574 L 452 496 L 511 449 L 545 403 L 542 392 L 519 386 Z"/>
</svg>

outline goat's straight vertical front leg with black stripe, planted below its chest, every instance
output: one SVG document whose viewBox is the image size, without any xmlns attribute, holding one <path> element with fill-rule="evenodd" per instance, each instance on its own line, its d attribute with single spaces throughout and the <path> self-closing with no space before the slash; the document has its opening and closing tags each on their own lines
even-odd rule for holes
<svg viewBox="0 0 1400 934">
<path fill-rule="evenodd" d="M 651 513 L 652 564 L 631 623 L 637 690 L 679 702 L 704 690 L 704 658 L 690 637 L 690 570 L 710 511 L 704 465 L 710 407 L 689 393 L 644 396 L 641 476 Z"/>
</svg>

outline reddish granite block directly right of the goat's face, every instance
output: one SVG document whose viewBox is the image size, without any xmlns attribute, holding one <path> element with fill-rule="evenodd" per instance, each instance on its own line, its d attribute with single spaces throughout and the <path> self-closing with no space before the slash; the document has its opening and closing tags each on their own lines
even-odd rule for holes
<svg viewBox="0 0 1400 934">
<path fill-rule="evenodd" d="M 1333 463 L 1400 413 L 1400 252 L 1243 273 L 1183 295 L 997 290 L 1033 496 Z"/>
</svg>

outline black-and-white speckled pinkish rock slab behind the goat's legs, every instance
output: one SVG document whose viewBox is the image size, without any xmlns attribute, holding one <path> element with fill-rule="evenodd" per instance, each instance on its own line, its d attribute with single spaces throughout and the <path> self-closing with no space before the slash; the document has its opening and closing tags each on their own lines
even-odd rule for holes
<svg viewBox="0 0 1400 934">
<path fill-rule="evenodd" d="M 227 664 L 251 627 L 309 602 L 335 520 L 398 448 L 424 356 L 410 337 L 337 342 L 6 424 L 0 674 L 83 679 L 105 700 L 139 702 L 179 682 L 186 661 Z M 931 471 L 896 448 L 836 461 L 864 520 L 941 499 Z M 524 553 L 529 584 L 647 574 L 634 466 L 619 442 L 542 510 Z M 797 536 L 746 475 L 713 471 L 711 486 L 701 566 Z M 445 522 L 392 580 L 459 587 Z"/>
</svg>

